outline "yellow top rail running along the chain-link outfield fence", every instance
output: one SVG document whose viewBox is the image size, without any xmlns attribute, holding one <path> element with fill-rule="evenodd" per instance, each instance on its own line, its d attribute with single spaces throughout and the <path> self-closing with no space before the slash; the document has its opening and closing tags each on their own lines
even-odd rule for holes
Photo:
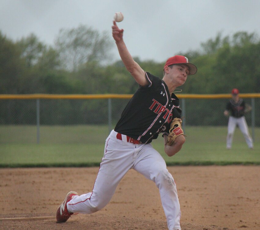
<svg viewBox="0 0 260 230">
<path fill-rule="evenodd" d="M 178 98 L 220 99 L 231 98 L 231 94 L 176 94 Z M 5 99 L 130 99 L 132 94 L 0 94 Z M 260 98 L 260 93 L 240 93 L 241 98 Z"/>
</svg>

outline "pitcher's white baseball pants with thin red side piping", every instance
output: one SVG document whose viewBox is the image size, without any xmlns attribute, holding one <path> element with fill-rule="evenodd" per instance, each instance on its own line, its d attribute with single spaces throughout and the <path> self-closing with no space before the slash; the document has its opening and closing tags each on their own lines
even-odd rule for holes
<svg viewBox="0 0 260 230">
<path fill-rule="evenodd" d="M 112 130 L 106 139 L 104 157 L 92 192 L 74 196 L 67 203 L 68 211 L 90 214 L 102 209 L 112 198 L 123 176 L 134 169 L 154 181 L 159 189 L 168 228 L 180 230 L 181 213 L 176 184 L 166 168 L 165 160 L 151 144 L 133 144 L 127 142 L 125 135 L 122 135 L 122 140 L 118 140 L 116 135 L 117 132 Z"/>
</svg>

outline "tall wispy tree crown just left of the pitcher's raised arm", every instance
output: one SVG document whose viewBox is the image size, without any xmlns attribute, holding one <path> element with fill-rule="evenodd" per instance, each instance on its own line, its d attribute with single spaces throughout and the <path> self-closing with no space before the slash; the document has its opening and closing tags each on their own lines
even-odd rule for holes
<svg viewBox="0 0 260 230">
<path fill-rule="evenodd" d="M 66 70 L 78 70 L 86 62 L 108 60 L 112 40 L 107 32 L 100 34 L 86 25 L 61 29 L 55 41 Z"/>
</svg>

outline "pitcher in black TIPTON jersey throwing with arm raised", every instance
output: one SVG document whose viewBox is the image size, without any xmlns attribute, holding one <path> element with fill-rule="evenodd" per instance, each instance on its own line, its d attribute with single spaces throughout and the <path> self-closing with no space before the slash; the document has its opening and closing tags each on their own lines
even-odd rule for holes
<svg viewBox="0 0 260 230">
<path fill-rule="evenodd" d="M 112 34 L 119 54 L 139 88 L 106 139 L 93 190 L 82 195 L 69 192 L 57 210 L 57 222 L 67 221 L 73 213 L 90 214 L 105 207 L 123 176 L 134 169 L 154 181 L 159 189 L 168 228 L 180 230 L 181 212 L 176 184 L 165 160 L 151 142 L 162 134 L 168 156 L 173 156 L 182 148 L 185 137 L 181 129 L 181 109 L 173 91 L 185 83 L 188 75 L 195 74 L 197 68 L 186 57 L 176 55 L 165 63 L 161 80 L 142 70 L 133 60 L 124 43 L 123 31 L 113 21 Z"/>
</svg>

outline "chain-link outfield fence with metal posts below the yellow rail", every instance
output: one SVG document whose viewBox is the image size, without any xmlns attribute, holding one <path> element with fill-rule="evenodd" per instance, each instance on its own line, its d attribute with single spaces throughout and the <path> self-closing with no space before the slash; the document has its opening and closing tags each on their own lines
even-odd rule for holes
<svg viewBox="0 0 260 230">
<path fill-rule="evenodd" d="M 227 98 L 180 98 L 183 126 L 227 126 L 224 116 Z M 0 98 L 1 143 L 84 143 L 86 130 L 106 130 L 119 120 L 131 95 L 94 98 Z M 242 95 L 241 95 L 242 97 Z M 252 107 L 245 115 L 250 133 L 260 126 L 260 97 L 244 98 Z M 86 129 L 88 126 L 88 129 Z M 102 142 L 104 139 L 102 138 Z"/>
</svg>

